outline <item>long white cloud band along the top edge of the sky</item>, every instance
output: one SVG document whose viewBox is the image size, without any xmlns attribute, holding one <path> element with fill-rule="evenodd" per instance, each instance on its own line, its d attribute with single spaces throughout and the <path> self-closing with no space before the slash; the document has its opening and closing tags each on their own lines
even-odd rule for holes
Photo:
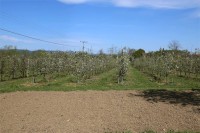
<svg viewBox="0 0 200 133">
<path fill-rule="evenodd" d="M 119 7 L 191 8 L 200 7 L 200 0 L 58 0 L 66 4 L 111 3 Z"/>
</svg>

